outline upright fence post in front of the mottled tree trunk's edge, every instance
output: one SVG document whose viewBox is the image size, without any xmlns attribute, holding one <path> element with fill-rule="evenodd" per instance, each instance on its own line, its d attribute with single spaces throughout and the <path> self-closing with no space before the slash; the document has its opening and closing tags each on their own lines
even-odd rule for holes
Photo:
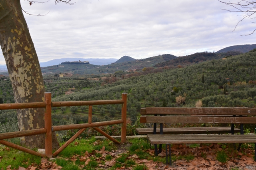
<svg viewBox="0 0 256 170">
<path fill-rule="evenodd" d="M 46 129 L 45 136 L 45 154 L 48 158 L 52 158 L 52 94 L 51 92 L 44 93 L 46 109 L 44 112 L 44 128 Z"/>
</svg>

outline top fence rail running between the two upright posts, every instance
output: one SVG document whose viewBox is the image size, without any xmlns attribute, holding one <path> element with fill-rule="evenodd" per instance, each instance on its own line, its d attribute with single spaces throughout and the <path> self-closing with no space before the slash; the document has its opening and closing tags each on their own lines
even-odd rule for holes
<svg viewBox="0 0 256 170">
<path fill-rule="evenodd" d="M 52 102 L 52 107 L 62 106 L 89 106 L 103 104 L 123 104 L 123 100 L 94 100 L 94 101 L 72 101 L 72 102 Z"/>
</svg>

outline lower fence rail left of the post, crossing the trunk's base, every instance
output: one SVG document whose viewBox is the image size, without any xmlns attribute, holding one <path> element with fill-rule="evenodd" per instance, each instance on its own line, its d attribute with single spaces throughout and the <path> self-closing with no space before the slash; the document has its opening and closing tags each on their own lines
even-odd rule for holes
<svg viewBox="0 0 256 170">
<path fill-rule="evenodd" d="M 46 133 L 45 128 L 41 129 L 32 129 L 27 131 L 18 131 L 18 132 L 9 132 L 9 133 L 0 133 L 0 139 L 11 139 L 15 137 L 24 137 L 24 136 L 30 136 L 30 135 L 39 135 Z"/>
</svg>

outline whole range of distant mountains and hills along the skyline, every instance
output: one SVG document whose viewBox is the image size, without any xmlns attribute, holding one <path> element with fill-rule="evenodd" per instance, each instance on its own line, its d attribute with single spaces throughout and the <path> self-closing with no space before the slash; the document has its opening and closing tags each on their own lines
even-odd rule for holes
<svg viewBox="0 0 256 170">
<path fill-rule="evenodd" d="M 256 49 L 256 44 L 251 44 L 251 45 L 233 45 L 230 47 L 226 47 L 224 49 L 221 49 L 217 51 L 214 54 L 204 54 L 204 53 L 195 53 L 192 55 L 187 55 L 183 57 L 176 57 L 171 54 L 164 54 L 164 55 L 159 55 L 159 56 L 154 56 L 154 57 L 149 57 L 146 59 L 140 59 L 136 60 L 132 57 L 129 56 L 123 56 L 119 60 L 118 59 L 84 59 L 84 58 L 64 58 L 64 59 L 54 59 L 51 61 L 47 62 L 39 62 L 41 67 L 48 67 L 48 66 L 56 66 L 59 65 L 60 63 L 63 62 L 70 62 L 70 61 L 89 61 L 90 64 L 92 65 L 108 65 L 108 64 L 117 64 L 116 67 L 122 68 L 122 66 L 127 65 L 131 62 L 129 65 L 130 68 L 135 68 L 135 69 L 140 69 L 141 67 L 148 67 L 148 66 L 177 66 L 179 64 L 181 65 L 187 65 L 187 64 L 192 64 L 192 63 L 198 63 L 202 61 L 207 61 L 211 59 L 218 59 L 222 57 L 226 57 L 228 55 L 238 55 L 240 53 L 247 53 L 253 49 Z M 233 51 L 233 52 L 232 52 Z M 218 54 L 217 53 L 223 53 L 223 54 Z M 236 54 L 235 54 L 236 53 Z M 134 63 L 135 62 L 135 63 Z M 126 63 L 126 64 L 125 64 Z M 158 64 L 159 63 L 159 64 Z M 121 64 L 121 65 L 120 65 Z M 99 67 L 97 67 L 99 68 Z M 119 69 L 120 69 L 119 68 Z M 124 66 L 125 69 L 126 66 Z M 123 69 L 124 69 L 123 68 Z M 0 65 L 0 71 L 8 71 L 6 65 Z M 64 71 L 64 70 L 63 70 Z"/>
</svg>

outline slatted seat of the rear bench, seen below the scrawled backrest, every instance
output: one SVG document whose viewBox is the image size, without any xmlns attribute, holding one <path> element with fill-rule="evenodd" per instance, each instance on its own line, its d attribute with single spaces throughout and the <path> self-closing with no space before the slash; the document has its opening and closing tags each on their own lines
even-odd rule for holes
<svg viewBox="0 0 256 170">
<path fill-rule="evenodd" d="M 153 134 L 153 128 L 136 128 L 139 135 Z M 240 129 L 234 128 L 234 133 L 239 133 Z M 166 127 L 164 134 L 198 134 L 198 133 L 231 133 L 230 127 Z M 160 128 L 156 129 L 156 134 L 160 134 Z"/>
</svg>

